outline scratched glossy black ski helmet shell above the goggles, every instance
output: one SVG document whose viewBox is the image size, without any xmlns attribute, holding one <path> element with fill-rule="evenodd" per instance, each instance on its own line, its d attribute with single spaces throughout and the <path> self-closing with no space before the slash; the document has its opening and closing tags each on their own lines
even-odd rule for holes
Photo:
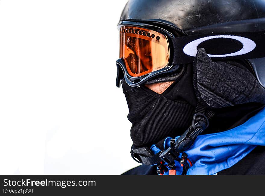
<svg viewBox="0 0 265 196">
<path fill-rule="evenodd" d="M 183 31 L 183 35 L 254 32 L 265 29 L 265 1 L 129 0 L 121 21 L 144 21 L 163 27 L 173 25 Z M 265 87 L 265 58 L 252 58 L 248 62 Z"/>
</svg>

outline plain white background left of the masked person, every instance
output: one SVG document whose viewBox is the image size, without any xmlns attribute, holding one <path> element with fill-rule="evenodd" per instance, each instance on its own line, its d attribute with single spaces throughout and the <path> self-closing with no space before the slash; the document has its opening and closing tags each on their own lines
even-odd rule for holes
<svg viewBox="0 0 265 196">
<path fill-rule="evenodd" d="M 0 174 L 119 175 L 139 165 L 115 86 L 125 4 L 0 1 Z"/>
</svg>

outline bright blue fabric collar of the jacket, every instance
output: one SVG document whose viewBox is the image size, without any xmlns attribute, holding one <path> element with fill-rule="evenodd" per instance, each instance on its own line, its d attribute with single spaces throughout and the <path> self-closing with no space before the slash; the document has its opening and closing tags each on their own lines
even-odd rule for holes
<svg viewBox="0 0 265 196">
<path fill-rule="evenodd" d="M 193 163 L 187 175 L 211 175 L 227 169 L 239 162 L 257 145 L 265 146 L 264 138 L 265 109 L 244 124 L 228 131 L 199 135 L 192 147 L 186 151 Z M 170 139 L 165 140 L 165 149 L 170 146 Z M 154 153 L 160 151 L 155 145 L 152 145 L 151 150 Z M 182 167 L 176 162 L 176 174 L 181 173 Z M 166 174 L 168 172 L 164 173 Z"/>
</svg>

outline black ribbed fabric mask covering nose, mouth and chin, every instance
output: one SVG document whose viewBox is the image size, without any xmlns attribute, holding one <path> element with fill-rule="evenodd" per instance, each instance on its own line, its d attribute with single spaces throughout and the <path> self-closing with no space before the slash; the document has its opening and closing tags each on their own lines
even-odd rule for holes
<svg viewBox="0 0 265 196">
<path fill-rule="evenodd" d="M 186 131 L 192 123 L 197 104 L 192 85 L 192 66 L 187 66 L 183 75 L 162 94 L 144 85 L 130 87 L 122 82 L 134 145 L 154 144 Z"/>
</svg>

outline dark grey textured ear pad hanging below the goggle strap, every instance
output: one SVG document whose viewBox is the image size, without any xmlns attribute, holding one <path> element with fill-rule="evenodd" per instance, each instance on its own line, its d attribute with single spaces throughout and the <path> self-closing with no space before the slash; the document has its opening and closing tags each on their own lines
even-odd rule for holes
<svg viewBox="0 0 265 196">
<path fill-rule="evenodd" d="M 212 62 L 201 48 L 193 67 L 195 92 L 206 106 L 222 108 L 250 102 L 265 103 L 265 89 L 240 63 Z"/>
</svg>

